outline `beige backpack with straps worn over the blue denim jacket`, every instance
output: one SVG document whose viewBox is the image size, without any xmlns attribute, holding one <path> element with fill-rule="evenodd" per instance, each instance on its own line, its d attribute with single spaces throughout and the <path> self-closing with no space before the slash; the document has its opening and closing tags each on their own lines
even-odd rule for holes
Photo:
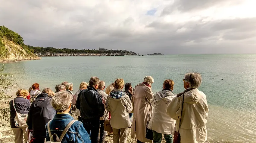
<svg viewBox="0 0 256 143">
<path fill-rule="evenodd" d="M 51 120 L 52 121 L 52 120 Z M 52 135 L 51 130 L 50 130 L 50 122 L 48 122 L 47 128 L 48 128 L 48 133 L 49 133 L 49 137 L 50 137 L 50 141 L 45 142 L 45 143 L 61 143 L 62 139 L 64 138 L 64 136 L 66 135 L 67 131 L 69 130 L 69 128 L 72 126 L 72 124 L 77 121 L 77 120 L 72 120 L 70 121 L 67 126 L 65 127 L 64 131 L 62 132 L 60 138 L 57 136 L 56 133 L 54 133 Z"/>
</svg>

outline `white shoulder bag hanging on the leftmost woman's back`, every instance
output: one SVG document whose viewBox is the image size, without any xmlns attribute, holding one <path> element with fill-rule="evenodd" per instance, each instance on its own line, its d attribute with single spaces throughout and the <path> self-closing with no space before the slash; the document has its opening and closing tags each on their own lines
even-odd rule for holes
<svg viewBox="0 0 256 143">
<path fill-rule="evenodd" d="M 18 113 L 16 111 L 16 107 L 15 107 L 15 104 L 14 104 L 14 99 L 12 100 L 12 104 L 13 104 L 14 110 L 16 112 L 16 115 L 15 115 L 15 118 L 14 118 L 14 124 L 15 124 L 16 127 L 27 127 L 26 121 L 27 121 L 28 114 L 21 114 L 21 113 Z"/>
</svg>

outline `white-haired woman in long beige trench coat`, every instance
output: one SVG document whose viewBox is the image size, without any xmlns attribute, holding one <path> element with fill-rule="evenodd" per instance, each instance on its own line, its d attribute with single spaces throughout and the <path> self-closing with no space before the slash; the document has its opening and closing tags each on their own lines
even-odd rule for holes
<svg viewBox="0 0 256 143">
<path fill-rule="evenodd" d="M 136 139 L 138 143 L 152 142 L 146 139 L 146 126 L 147 121 L 150 120 L 152 114 L 152 108 L 150 105 L 150 99 L 153 98 L 153 92 L 151 91 L 151 84 L 154 82 L 153 77 L 146 76 L 144 82 L 137 85 L 133 92 L 133 123 L 132 123 L 132 138 Z"/>
</svg>

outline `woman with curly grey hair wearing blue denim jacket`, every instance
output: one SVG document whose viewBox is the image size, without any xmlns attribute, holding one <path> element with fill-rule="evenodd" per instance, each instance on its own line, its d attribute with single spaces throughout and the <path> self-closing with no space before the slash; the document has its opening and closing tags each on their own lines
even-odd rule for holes
<svg viewBox="0 0 256 143">
<path fill-rule="evenodd" d="M 74 118 L 68 113 L 71 108 L 72 95 L 68 91 L 60 91 L 53 96 L 51 100 L 52 107 L 57 111 L 53 120 L 45 125 L 46 141 L 51 141 L 51 136 L 56 134 L 59 138 L 65 127 L 71 123 L 62 141 L 58 142 L 85 142 L 91 143 L 88 133 L 83 127 L 83 123 Z M 48 130 L 48 124 L 50 130 Z M 56 142 L 56 141 L 55 141 Z"/>
</svg>

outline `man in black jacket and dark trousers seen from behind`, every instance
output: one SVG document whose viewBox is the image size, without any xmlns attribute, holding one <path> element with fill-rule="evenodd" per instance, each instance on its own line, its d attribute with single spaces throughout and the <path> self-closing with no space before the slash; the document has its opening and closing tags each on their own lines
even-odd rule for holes
<svg viewBox="0 0 256 143">
<path fill-rule="evenodd" d="M 91 142 L 99 142 L 100 117 L 104 115 L 102 96 L 98 93 L 99 78 L 91 77 L 87 89 L 78 94 L 76 108 L 80 110 L 83 126 L 87 133 L 91 132 Z"/>
</svg>

